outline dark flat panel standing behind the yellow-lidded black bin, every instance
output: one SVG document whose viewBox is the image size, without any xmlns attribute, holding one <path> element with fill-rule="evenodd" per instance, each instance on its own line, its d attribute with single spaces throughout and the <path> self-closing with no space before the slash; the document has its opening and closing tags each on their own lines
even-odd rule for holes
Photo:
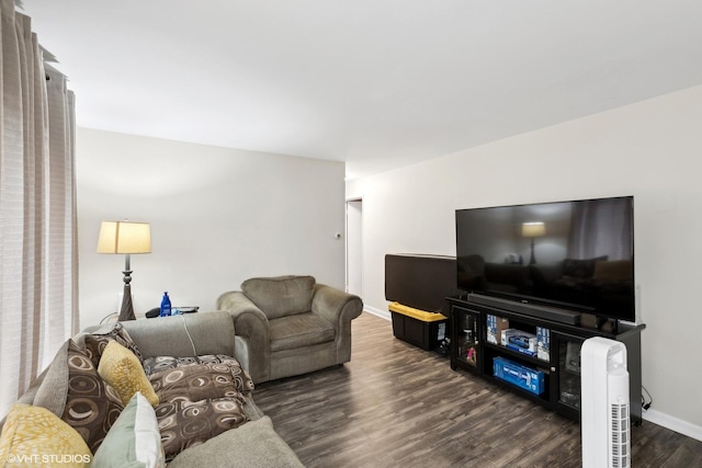
<svg viewBox="0 0 702 468">
<path fill-rule="evenodd" d="M 458 295 L 455 256 L 385 255 L 385 299 L 440 312 L 444 297 Z"/>
</svg>

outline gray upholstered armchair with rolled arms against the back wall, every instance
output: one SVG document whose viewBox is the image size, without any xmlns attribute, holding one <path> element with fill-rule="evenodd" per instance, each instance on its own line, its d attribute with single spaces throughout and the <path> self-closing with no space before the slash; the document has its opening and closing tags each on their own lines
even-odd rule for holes
<svg viewBox="0 0 702 468">
<path fill-rule="evenodd" d="M 217 308 L 234 317 L 237 353 L 260 384 L 349 362 L 351 320 L 363 303 L 312 276 L 280 276 L 245 281 Z"/>
</svg>

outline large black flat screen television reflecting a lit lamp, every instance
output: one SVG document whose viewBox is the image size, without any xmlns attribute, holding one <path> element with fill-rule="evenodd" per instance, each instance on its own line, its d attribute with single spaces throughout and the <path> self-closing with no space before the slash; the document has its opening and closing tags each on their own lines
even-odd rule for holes
<svg viewBox="0 0 702 468">
<path fill-rule="evenodd" d="M 456 210 L 458 289 L 635 321 L 634 197 Z"/>
</svg>

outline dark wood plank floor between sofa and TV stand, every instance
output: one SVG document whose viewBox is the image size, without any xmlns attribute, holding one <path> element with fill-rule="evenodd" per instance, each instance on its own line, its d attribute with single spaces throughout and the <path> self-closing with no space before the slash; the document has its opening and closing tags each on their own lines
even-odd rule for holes
<svg viewBox="0 0 702 468">
<path fill-rule="evenodd" d="M 353 321 L 351 362 L 261 384 L 257 404 L 312 467 L 579 467 L 579 424 Z M 702 467 L 702 442 L 644 422 L 634 467 Z"/>
</svg>

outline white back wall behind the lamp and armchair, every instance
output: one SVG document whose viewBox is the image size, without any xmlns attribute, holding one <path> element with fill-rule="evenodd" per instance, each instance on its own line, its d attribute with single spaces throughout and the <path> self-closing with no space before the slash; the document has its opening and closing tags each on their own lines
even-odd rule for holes
<svg viewBox="0 0 702 468">
<path fill-rule="evenodd" d="M 344 165 L 79 128 L 81 327 L 117 310 L 124 255 L 95 253 L 100 221 L 151 224 L 132 255 L 135 312 L 214 310 L 251 276 L 312 274 L 344 286 Z"/>
</svg>

